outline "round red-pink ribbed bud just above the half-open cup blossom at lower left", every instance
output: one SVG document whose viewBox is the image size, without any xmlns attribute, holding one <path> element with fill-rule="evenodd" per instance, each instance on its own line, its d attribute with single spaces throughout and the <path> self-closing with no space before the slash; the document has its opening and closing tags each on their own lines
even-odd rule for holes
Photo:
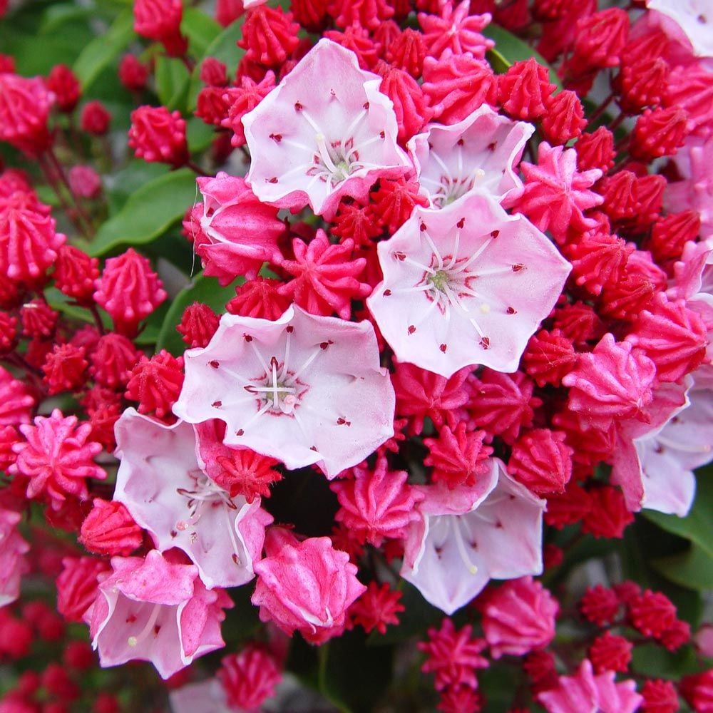
<svg viewBox="0 0 713 713">
<path fill-rule="evenodd" d="M 97 555 L 127 557 L 143 541 L 143 530 L 122 503 L 94 498 L 79 541 Z"/>
</svg>

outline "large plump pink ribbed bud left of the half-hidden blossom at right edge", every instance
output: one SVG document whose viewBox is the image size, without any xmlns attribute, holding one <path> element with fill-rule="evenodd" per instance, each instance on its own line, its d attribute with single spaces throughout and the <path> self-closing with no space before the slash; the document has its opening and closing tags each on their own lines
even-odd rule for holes
<svg viewBox="0 0 713 713">
<path fill-rule="evenodd" d="M 615 419 L 642 416 L 655 380 L 654 362 L 630 342 L 615 342 L 608 332 L 591 354 L 580 356 L 562 384 L 570 388 L 570 409 L 583 424 L 606 430 Z"/>
</svg>

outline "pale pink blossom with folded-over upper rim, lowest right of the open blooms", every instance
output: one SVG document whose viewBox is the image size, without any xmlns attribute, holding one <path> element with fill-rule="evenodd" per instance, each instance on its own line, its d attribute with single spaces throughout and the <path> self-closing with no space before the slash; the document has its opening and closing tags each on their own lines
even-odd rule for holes
<svg viewBox="0 0 713 713">
<path fill-rule="evenodd" d="M 451 615 L 489 580 L 542 572 L 545 501 L 494 459 L 475 486 L 416 486 L 426 496 L 409 528 L 401 576 Z"/>
</svg>

